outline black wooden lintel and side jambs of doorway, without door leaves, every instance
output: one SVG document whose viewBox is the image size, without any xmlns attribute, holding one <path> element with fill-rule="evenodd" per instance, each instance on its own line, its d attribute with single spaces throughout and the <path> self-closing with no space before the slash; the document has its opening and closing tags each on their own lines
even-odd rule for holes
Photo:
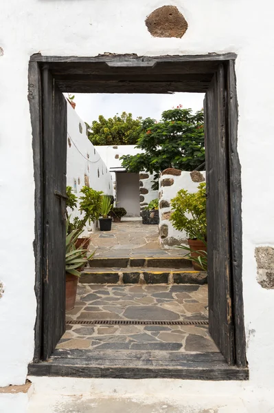
<svg viewBox="0 0 274 413">
<path fill-rule="evenodd" d="M 231 311 L 233 317 L 235 360 L 238 367 L 247 366 L 242 299 L 242 211 L 241 169 L 237 151 L 238 104 L 235 77 L 236 54 L 197 56 L 136 56 L 107 54 L 96 57 L 41 56 L 34 54 L 29 64 L 30 114 L 34 151 L 35 198 L 35 324 L 34 362 L 41 360 L 43 338 L 43 94 L 41 70 L 47 67 L 61 92 L 86 93 L 168 93 L 206 92 L 218 64 L 225 67 L 227 96 L 226 122 L 229 131 L 229 211 L 231 242 Z M 156 74 L 155 74 L 156 67 Z"/>
</svg>

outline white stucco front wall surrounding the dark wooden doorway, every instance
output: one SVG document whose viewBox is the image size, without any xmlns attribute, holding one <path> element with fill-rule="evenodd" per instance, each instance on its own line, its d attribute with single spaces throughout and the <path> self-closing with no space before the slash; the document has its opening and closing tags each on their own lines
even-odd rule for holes
<svg viewBox="0 0 274 413">
<path fill-rule="evenodd" d="M 183 12 L 189 25 L 182 39 L 156 39 L 146 29 L 146 16 L 163 6 L 163 0 L 1 3 L 0 279 L 5 293 L 0 299 L 0 385 L 25 381 L 27 363 L 32 360 L 34 350 L 34 169 L 27 101 L 30 55 L 236 52 L 244 324 L 250 381 L 218 383 L 218 396 L 223 395 L 222 405 L 229 405 L 231 399 L 227 394 L 233 385 L 234 397 L 252 394 L 256 401 L 247 403 L 245 410 L 238 412 L 255 413 L 259 407 L 261 413 L 271 412 L 274 402 L 266 404 L 265 394 L 266 389 L 273 394 L 274 387 L 274 329 L 271 328 L 274 291 L 262 288 L 256 281 L 254 249 L 259 245 L 274 246 L 274 192 L 269 186 L 274 178 L 273 131 L 266 121 L 274 112 L 273 1 L 172 0 L 171 3 Z M 19 263 L 16 268 L 11 264 L 14 260 Z M 198 394 L 199 400 L 212 395 L 214 404 L 216 383 L 206 384 L 192 381 L 192 394 Z M 184 385 L 182 381 L 181 386 Z M 6 412 L 4 403 L 2 400 L 2 410 Z"/>
</svg>

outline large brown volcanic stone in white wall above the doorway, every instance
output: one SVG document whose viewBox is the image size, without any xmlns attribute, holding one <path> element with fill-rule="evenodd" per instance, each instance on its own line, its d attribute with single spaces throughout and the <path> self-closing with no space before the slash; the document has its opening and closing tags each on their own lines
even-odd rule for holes
<svg viewBox="0 0 274 413">
<path fill-rule="evenodd" d="M 146 27 L 154 37 L 183 37 L 188 25 L 176 6 L 163 6 L 146 18 Z"/>
</svg>

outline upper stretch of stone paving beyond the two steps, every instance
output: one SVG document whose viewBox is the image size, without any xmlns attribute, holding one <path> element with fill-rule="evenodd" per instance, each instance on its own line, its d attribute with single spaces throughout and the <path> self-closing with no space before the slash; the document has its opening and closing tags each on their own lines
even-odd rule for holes
<svg viewBox="0 0 274 413">
<path fill-rule="evenodd" d="M 179 248 L 165 249 L 159 243 L 158 225 L 140 221 L 113 222 L 111 231 L 91 234 L 91 251 L 95 257 L 181 257 Z"/>
</svg>

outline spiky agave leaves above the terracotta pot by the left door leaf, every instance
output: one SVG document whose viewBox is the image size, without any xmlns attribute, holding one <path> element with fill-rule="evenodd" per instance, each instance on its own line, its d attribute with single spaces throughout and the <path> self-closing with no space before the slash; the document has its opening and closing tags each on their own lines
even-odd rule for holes
<svg viewBox="0 0 274 413">
<path fill-rule="evenodd" d="M 76 275 L 76 277 L 80 277 L 79 269 L 87 264 L 95 253 L 93 251 L 91 255 L 87 256 L 87 249 L 82 248 L 82 246 L 76 248 L 75 242 L 81 233 L 82 230 L 74 230 L 66 237 L 66 273 Z"/>
</svg>

